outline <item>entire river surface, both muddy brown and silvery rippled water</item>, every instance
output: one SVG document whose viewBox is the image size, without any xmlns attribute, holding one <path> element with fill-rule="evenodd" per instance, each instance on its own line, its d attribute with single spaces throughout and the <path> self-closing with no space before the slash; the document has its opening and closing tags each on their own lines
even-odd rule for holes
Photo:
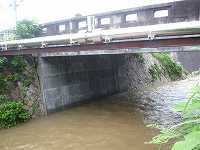
<svg viewBox="0 0 200 150">
<path fill-rule="evenodd" d="M 146 90 L 134 102 L 118 94 L 1 130 L 0 150 L 155 150 L 144 142 L 157 131 L 145 123 L 179 120 L 171 107 L 197 82 L 196 77 Z"/>
</svg>

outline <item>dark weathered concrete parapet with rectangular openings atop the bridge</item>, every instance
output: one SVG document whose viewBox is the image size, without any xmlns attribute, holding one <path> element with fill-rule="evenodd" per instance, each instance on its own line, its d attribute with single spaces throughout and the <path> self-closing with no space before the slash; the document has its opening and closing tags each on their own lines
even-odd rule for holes
<svg viewBox="0 0 200 150">
<path fill-rule="evenodd" d="M 90 16 L 78 16 L 42 25 L 41 36 L 92 32 L 200 19 L 200 1 L 185 0 L 112 11 Z"/>
</svg>

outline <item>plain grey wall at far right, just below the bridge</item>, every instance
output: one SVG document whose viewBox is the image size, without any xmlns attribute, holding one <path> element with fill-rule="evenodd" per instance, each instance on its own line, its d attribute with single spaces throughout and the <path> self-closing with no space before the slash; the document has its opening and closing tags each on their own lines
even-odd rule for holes
<svg viewBox="0 0 200 150">
<path fill-rule="evenodd" d="M 200 52 L 177 52 L 173 56 L 189 72 L 200 69 Z"/>
</svg>

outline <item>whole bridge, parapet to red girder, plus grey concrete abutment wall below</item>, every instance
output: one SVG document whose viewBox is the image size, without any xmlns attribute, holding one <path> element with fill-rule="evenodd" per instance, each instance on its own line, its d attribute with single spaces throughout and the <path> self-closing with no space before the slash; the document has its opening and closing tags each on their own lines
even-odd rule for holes
<svg viewBox="0 0 200 150">
<path fill-rule="evenodd" d="M 38 58 L 42 99 L 54 111 L 127 90 L 127 60 L 119 54 L 200 51 L 200 1 L 77 16 L 43 24 L 39 37 L 0 45 L 0 56 Z"/>
</svg>

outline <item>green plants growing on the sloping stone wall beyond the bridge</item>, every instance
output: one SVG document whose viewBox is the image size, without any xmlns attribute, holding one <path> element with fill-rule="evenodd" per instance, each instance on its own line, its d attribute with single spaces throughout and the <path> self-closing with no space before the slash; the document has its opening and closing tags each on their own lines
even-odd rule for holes
<svg viewBox="0 0 200 150">
<path fill-rule="evenodd" d="M 160 62 L 160 65 L 152 65 L 149 68 L 149 73 L 152 76 L 152 81 L 161 79 L 161 75 L 167 75 L 172 81 L 181 79 L 184 70 L 181 65 L 177 64 L 168 53 L 153 53 L 152 56 Z"/>
</svg>

